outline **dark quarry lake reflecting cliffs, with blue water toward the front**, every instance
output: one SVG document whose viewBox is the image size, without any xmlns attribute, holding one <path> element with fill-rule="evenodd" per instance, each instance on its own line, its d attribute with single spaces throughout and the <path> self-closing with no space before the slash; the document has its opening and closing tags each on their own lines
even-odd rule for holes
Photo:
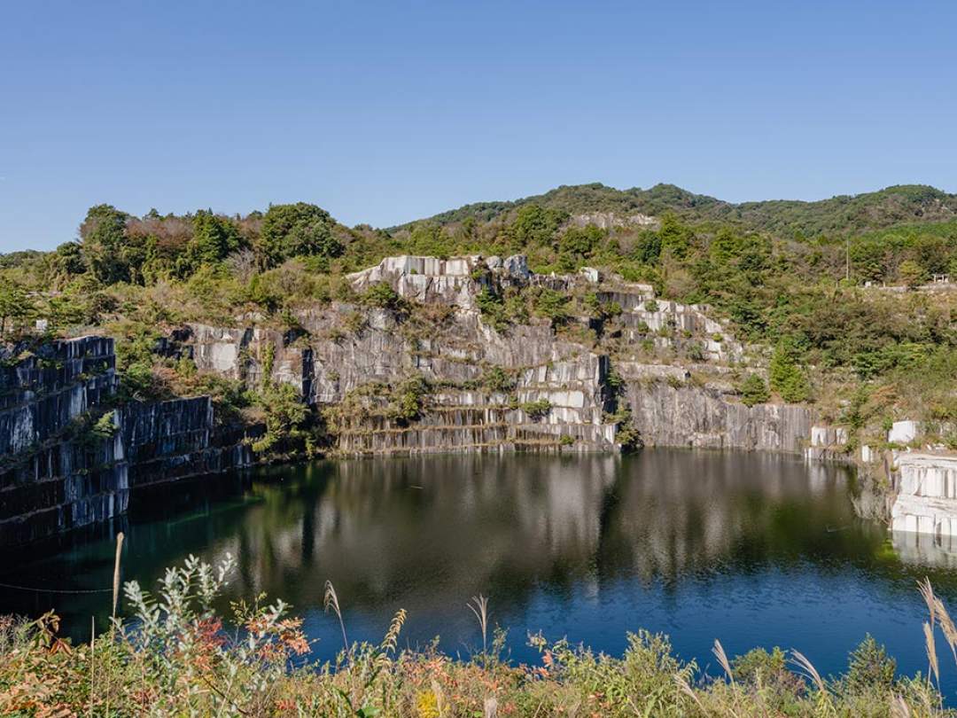
<svg viewBox="0 0 957 718">
<path fill-rule="evenodd" d="M 957 607 L 952 559 L 857 518 L 856 493 L 846 468 L 760 453 L 319 461 L 170 485 L 112 530 L 126 532 L 123 579 L 149 587 L 190 553 L 232 553 L 223 608 L 285 599 L 320 659 L 341 646 L 323 613 L 330 579 L 353 640 L 380 640 L 405 608 L 403 644 L 440 636 L 464 655 L 480 644 L 465 604 L 481 593 L 515 661 L 538 658 L 528 632 L 620 654 L 643 627 L 713 673 L 714 639 L 729 654 L 797 648 L 831 673 L 867 633 L 903 672 L 925 669 L 915 581 L 929 575 Z M 108 589 L 113 552 L 104 530 L 4 557 L 0 613 L 56 608 L 86 638 L 91 616 L 106 625 L 108 592 L 25 588 Z"/>
</svg>

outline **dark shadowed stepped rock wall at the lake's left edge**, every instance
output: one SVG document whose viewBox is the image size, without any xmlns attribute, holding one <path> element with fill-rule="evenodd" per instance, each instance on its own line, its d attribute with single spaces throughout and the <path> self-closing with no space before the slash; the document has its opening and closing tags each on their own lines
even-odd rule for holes
<svg viewBox="0 0 957 718">
<path fill-rule="evenodd" d="M 138 486 L 252 461 L 241 437 L 213 431 L 208 396 L 105 412 L 112 339 L 53 342 L 18 360 L 22 350 L 6 349 L 0 374 L 0 546 L 119 516 Z"/>
</svg>

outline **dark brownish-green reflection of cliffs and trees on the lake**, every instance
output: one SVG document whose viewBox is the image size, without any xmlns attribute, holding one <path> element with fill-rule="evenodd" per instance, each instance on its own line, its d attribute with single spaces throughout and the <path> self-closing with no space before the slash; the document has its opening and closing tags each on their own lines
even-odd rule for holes
<svg viewBox="0 0 957 718">
<path fill-rule="evenodd" d="M 145 522 L 134 507 L 124 578 L 151 585 L 189 553 L 238 559 L 231 597 L 280 596 L 299 612 L 322 605 L 330 579 L 351 610 L 376 616 L 461 614 L 479 592 L 521 608 L 539 589 L 568 595 L 620 579 L 753 572 L 809 560 L 862 563 L 879 527 L 848 501 L 846 470 L 763 454 L 655 449 L 634 457 L 438 456 L 323 461 L 234 482 L 231 498 Z M 217 484 L 221 485 L 221 484 Z M 109 540 L 33 561 L 25 580 L 108 586 Z M 0 581 L 4 580 L 0 576 Z M 35 614 L 42 597 L 13 608 Z M 71 602 L 102 615 L 106 601 Z M 62 609 L 62 606 L 59 606 Z M 11 610 L 8 606 L 7 610 Z M 69 618 L 69 616 L 67 616 Z"/>
</svg>

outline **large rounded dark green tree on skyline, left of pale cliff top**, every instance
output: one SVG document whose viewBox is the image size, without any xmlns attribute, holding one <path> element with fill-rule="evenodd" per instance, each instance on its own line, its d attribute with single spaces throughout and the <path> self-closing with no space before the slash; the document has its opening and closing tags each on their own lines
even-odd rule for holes
<svg viewBox="0 0 957 718">
<path fill-rule="evenodd" d="M 273 205 L 262 218 L 259 252 L 269 266 L 292 257 L 339 257 L 344 247 L 333 234 L 335 226 L 329 213 L 316 205 Z"/>
</svg>

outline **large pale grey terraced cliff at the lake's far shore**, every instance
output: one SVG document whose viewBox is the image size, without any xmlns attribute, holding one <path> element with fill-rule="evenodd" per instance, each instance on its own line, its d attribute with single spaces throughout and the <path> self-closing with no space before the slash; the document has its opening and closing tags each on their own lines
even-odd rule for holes
<svg viewBox="0 0 957 718">
<path fill-rule="evenodd" d="M 243 376 L 231 362 L 245 357 L 246 375 L 261 371 L 263 342 L 273 345 L 273 379 L 301 388 L 309 403 L 337 406 L 376 385 L 388 393 L 409 376 L 433 387 L 413 418 L 390 415 L 388 401 L 366 396 L 341 417 L 336 449 L 346 455 L 557 448 L 608 450 L 617 420 L 630 408 L 634 427 L 648 443 L 801 452 L 811 433 L 806 407 L 736 400 L 722 372 L 742 361 L 745 348 L 707 307 L 656 300 L 651 285 L 603 277 L 535 275 L 521 255 L 438 259 L 392 257 L 349 275 L 359 294 L 385 282 L 418 310 L 412 317 L 356 303 L 297 316 L 303 336 L 246 327 L 190 325 L 192 355 L 201 368 Z M 593 293 L 616 306 L 614 346 L 556 332 L 545 320 L 496 329 L 479 311 L 483 290 L 525 287 Z M 425 309 L 423 309 L 425 307 Z M 421 315 L 430 315 L 424 321 Z M 588 324 L 604 330 L 602 323 Z M 701 364 L 717 381 L 698 384 L 689 368 L 623 358 L 639 344 L 667 354 L 694 344 Z M 255 368 L 250 370 L 249 367 Z M 487 386 L 492 368 L 511 377 L 507 391 Z M 612 387 L 612 377 L 623 385 Z M 369 390 L 369 393 L 375 393 Z M 547 411 L 529 415 L 527 405 Z M 524 408 L 523 408 L 524 407 Z"/>
</svg>

